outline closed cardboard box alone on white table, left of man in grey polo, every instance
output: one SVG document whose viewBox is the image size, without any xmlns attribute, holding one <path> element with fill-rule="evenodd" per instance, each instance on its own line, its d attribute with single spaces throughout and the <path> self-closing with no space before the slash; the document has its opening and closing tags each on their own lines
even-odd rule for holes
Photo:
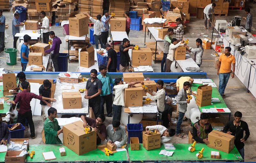
<svg viewBox="0 0 256 163">
<path fill-rule="evenodd" d="M 82 96 L 80 92 L 62 92 L 63 109 L 82 108 Z"/>
</svg>

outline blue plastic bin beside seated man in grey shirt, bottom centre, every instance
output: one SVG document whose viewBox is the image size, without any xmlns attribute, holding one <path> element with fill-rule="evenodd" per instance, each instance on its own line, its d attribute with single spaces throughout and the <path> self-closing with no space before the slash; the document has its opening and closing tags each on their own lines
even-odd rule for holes
<svg viewBox="0 0 256 163">
<path fill-rule="evenodd" d="M 128 143 L 130 143 L 130 138 L 138 137 L 139 142 L 142 143 L 142 124 L 127 124 L 128 131 Z"/>
</svg>

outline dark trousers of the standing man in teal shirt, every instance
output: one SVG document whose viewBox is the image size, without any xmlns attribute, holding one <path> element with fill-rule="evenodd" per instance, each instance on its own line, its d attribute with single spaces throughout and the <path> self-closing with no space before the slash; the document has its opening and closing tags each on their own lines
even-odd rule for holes
<svg viewBox="0 0 256 163">
<path fill-rule="evenodd" d="M 104 103 L 106 102 L 106 110 L 108 113 L 108 117 L 112 116 L 112 103 L 113 103 L 113 95 L 112 93 L 106 96 L 100 96 L 100 111 L 99 114 L 104 114 Z"/>
</svg>

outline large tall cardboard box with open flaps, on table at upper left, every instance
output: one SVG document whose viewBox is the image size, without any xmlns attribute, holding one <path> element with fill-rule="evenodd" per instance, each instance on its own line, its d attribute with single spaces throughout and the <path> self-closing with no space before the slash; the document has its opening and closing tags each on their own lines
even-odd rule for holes
<svg viewBox="0 0 256 163">
<path fill-rule="evenodd" d="M 88 20 L 80 11 L 71 12 L 68 18 L 69 21 L 69 35 L 81 37 L 88 34 Z"/>
</svg>

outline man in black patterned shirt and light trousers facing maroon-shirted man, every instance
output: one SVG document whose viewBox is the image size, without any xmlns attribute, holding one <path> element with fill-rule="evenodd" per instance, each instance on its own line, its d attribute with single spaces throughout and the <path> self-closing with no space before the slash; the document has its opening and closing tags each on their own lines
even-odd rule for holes
<svg viewBox="0 0 256 163">
<path fill-rule="evenodd" d="M 39 87 L 39 96 L 44 96 L 50 98 L 52 95 L 52 83 L 46 79 L 44 80 L 43 84 Z M 52 107 L 51 101 L 48 100 L 41 100 L 40 101 L 41 108 L 42 108 L 42 116 L 43 116 L 43 121 L 46 120 L 46 116 L 44 113 L 44 108 L 47 105 L 48 107 Z"/>
</svg>

